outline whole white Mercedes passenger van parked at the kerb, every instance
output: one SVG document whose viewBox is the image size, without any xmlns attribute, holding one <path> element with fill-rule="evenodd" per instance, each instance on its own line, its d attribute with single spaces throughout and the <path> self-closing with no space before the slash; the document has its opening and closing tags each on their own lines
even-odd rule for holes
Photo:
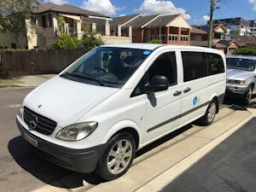
<svg viewBox="0 0 256 192">
<path fill-rule="evenodd" d="M 16 122 L 47 160 L 111 180 L 148 143 L 196 119 L 211 124 L 225 72 L 217 49 L 103 45 L 32 90 Z"/>
</svg>

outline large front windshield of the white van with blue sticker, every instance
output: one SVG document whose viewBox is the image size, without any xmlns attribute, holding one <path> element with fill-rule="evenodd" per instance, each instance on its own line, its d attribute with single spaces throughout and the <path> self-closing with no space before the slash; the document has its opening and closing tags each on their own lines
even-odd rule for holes
<svg viewBox="0 0 256 192">
<path fill-rule="evenodd" d="M 99 47 L 82 56 L 61 77 L 120 88 L 150 53 L 146 49 Z"/>
</svg>

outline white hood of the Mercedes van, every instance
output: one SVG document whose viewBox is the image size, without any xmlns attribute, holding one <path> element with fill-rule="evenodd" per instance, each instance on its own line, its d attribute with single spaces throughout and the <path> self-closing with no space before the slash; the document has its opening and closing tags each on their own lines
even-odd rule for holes
<svg viewBox="0 0 256 192">
<path fill-rule="evenodd" d="M 76 123 L 84 113 L 118 90 L 56 76 L 32 90 L 23 104 L 26 108 L 55 120 L 57 126 L 65 127 Z"/>
</svg>

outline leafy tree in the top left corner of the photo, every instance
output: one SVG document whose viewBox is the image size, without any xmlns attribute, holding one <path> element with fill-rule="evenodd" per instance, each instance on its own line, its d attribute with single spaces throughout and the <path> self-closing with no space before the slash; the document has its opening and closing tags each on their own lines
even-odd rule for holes
<svg viewBox="0 0 256 192">
<path fill-rule="evenodd" d="M 39 0 L 1 0 L 0 31 L 9 30 L 16 36 L 26 34 L 25 20 L 38 8 Z"/>
</svg>

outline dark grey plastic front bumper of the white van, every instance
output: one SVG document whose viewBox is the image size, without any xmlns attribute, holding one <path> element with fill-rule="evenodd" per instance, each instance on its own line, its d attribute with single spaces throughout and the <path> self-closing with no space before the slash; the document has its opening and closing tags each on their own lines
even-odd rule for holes
<svg viewBox="0 0 256 192">
<path fill-rule="evenodd" d="M 105 145 L 85 149 L 65 148 L 32 135 L 20 124 L 19 119 L 16 119 L 16 124 L 21 136 L 46 160 L 75 172 L 94 172 L 105 148 Z"/>
</svg>

